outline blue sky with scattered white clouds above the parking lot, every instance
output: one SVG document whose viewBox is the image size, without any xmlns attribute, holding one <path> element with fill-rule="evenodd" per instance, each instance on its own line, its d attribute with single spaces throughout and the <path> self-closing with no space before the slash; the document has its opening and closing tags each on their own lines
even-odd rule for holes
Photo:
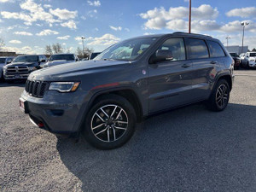
<svg viewBox="0 0 256 192">
<path fill-rule="evenodd" d="M 125 38 L 187 32 L 188 0 L 0 0 L 0 37 L 4 50 L 44 53 L 46 44 L 60 43 L 75 52 L 85 46 L 102 51 Z M 256 48 L 256 1 L 192 0 L 192 32 L 212 35 L 226 44 Z"/>
</svg>

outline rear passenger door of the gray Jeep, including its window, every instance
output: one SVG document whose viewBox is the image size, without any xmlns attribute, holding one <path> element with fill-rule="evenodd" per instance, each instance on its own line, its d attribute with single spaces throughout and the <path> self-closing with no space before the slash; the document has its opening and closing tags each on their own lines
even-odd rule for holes
<svg viewBox="0 0 256 192">
<path fill-rule="evenodd" d="M 201 38 L 187 38 L 189 59 L 193 61 L 192 94 L 194 101 L 207 99 L 211 93 L 211 85 L 216 75 L 218 60 L 210 58 L 207 43 Z"/>
</svg>

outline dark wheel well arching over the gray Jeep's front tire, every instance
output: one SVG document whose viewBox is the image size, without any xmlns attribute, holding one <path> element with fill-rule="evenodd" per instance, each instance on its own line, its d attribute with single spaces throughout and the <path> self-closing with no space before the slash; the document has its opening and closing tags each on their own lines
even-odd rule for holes
<svg viewBox="0 0 256 192">
<path fill-rule="evenodd" d="M 140 122 L 143 119 L 143 108 L 141 103 L 139 102 L 139 99 L 136 95 L 136 93 L 133 90 L 113 90 L 109 91 L 107 93 L 102 93 L 99 96 L 96 96 L 96 98 L 93 100 L 90 106 L 93 106 L 94 103 L 96 103 L 98 100 L 100 100 L 100 97 L 106 96 L 108 94 L 114 94 L 118 96 L 124 97 L 128 102 L 131 103 L 132 107 L 134 108 L 137 116 L 137 121 Z"/>
</svg>

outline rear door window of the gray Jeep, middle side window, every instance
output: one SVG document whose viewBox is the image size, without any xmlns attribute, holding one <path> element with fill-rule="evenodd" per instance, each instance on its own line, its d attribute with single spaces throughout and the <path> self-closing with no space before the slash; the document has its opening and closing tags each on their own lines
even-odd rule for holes
<svg viewBox="0 0 256 192">
<path fill-rule="evenodd" d="M 204 40 L 189 38 L 190 59 L 208 58 L 207 44 Z"/>
</svg>

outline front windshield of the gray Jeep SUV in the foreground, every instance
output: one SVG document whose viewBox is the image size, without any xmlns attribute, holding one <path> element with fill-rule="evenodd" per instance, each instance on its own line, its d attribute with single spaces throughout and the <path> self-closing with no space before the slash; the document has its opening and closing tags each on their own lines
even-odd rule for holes
<svg viewBox="0 0 256 192">
<path fill-rule="evenodd" d="M 114 44 L 97 55 L 94 60 L 120 60 L 132 61 L 148 49 L 157 38 L 136 38 Z"/>
</svg>

